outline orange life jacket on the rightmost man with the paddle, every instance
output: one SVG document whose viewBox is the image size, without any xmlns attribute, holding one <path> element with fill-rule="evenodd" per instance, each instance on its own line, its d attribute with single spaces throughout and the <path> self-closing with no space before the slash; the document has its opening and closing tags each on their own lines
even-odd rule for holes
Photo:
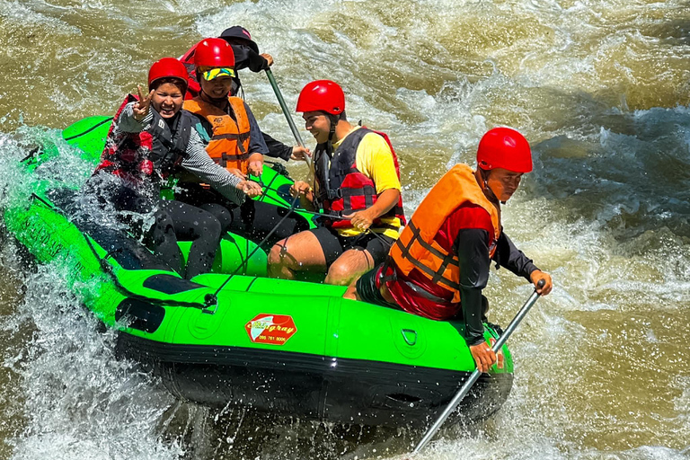
<svg viewBox="0 0 690 460">
<path fill-rule="evenodd" d="M 494 243 L 489 248 L 489 257 L 493 257 L 500 236 L 499 211 L 484 196 L 472 168 L 466 164 L 456 164 L 434 185 L 389 252 L 403 274 L 420 270 L 432 282 L 452 291 L 453 302 L 460 302 L 460 264 L 455 253 L 447 252 L 436 242 L 436 235 L 446 219 L 464 203 L 480 206 L 491 216 Z"/>
</svg>

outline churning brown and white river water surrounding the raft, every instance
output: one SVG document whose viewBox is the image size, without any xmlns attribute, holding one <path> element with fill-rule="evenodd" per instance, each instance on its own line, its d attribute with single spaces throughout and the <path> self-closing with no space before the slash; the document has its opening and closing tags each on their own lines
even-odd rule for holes
<svg viewBox="0 0 690 460">
<path fill-rule="evenodd" d="M 553 294 L 511 339 L 508 403 L 419 458 L 690 458 L 690 4 L 0 0 L 3 200 L 31 146 L 110 114 L 153 60 L 234 24 L 275 57 L 289 106 L 331 78 L 350 119 L 388 132 L 408 212 L 450 165 L 473 162 L 488 128 L 518 128 L 534 148 L 503 224 L 553 274 Z M 265 76 L 243 72 L 261 128 L 290 142 Z M 43 173 L 89 170 L 60 160 Z M 21 256 L 5 235 L 0 458 L 395 458 L 419 436 L 177 403 L 113 358 L 59 266 Z M 491 320 L 507 324 L 529 292 L 492 271 Z"/>
</svg>

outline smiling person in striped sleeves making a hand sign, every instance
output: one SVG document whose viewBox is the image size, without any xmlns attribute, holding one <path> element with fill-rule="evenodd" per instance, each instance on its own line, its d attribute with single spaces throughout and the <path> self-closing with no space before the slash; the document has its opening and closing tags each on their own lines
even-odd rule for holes
<svg viewBox="0 0 690 460">
<path fill-rule="evenodd" d="M 238 203 L 245 193 L 261 194 L 261 187 L 228 173 L 211 160 L 193 128 L 193 117 L 181 111 L 186 87 L 187 71 L 174 57 L 164 57 L 151 66 L 149 93 L 145 96 L 138 87 L 138 97 L 130 94 L 120 106 L 101 164 L 87 190 L 98 187 L 99 195 L 112 200 L 117 210 L 155 213 L 155 224 L 145 232 L 146 240 L 170 268 L 191 279 L 211 269 L 220 240 L 220 223 L 206 210 L 160 199 L 160 181 L 181 168 Z M 97 177 L 100 180 L 94 179 Z M 138 233 L 140 229 L 134 230 Z M 193 241 L 186 272 L 181 267 L 178 237 Z"/>
</svg>

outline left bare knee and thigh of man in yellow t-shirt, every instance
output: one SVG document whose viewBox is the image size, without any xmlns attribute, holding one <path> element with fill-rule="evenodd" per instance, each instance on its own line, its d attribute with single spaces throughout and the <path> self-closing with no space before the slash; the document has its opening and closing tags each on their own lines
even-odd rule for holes
<svg viewBox="0 0 690 460">
<path fill-rule="evenodd" d="M 296 273 L 303 271 L 326 272 L 326 256 L 323 254 L 321 243 L 313 233 L 293 234 L 270 248 L 270 277 L 296 279 Z"/>
</svg>

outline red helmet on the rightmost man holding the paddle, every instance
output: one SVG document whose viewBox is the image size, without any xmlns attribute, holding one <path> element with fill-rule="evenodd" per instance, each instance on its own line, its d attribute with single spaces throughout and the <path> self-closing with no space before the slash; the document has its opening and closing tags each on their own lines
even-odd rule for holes
<svg viewBox="0 0 690 460">
<path fill-rule="evenodd" d="M 514 173 L 532 171 L 532 151 L 527 139 L 511 128 L 493 128 L 479 141 L 477 164 L 484 170 L 503 168 Z"/>
</svg>

